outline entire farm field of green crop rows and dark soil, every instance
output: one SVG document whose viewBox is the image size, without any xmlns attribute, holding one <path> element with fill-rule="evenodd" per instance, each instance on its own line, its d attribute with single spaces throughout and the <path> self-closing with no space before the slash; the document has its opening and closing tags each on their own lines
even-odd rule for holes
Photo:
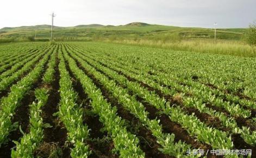
<svg viewBox="0 0 256 158">
<path fill-rule="evenodd" d="M 0 157 L 256 156 L 256 58 L 103 42 L 0 56 Z"/>
</svg>

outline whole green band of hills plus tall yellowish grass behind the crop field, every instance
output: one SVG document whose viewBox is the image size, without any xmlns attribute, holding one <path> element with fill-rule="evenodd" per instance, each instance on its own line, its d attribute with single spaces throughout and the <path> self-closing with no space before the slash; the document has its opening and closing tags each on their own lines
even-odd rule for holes
<svg viewBox="0 0 256 158">
<path fill-rule="evenodd" d="M 54 27 L 55 41 L 102 41 L 158 47 L 191 52 L 256 56 L 256 48 L 244 42 L 245 28 L 214 29 L 161 26 L 133 22 L 123 26 L 101 24 L 75 27 Z M 36 38 L 35 38 L 36 33 Z M 51 26 L 17 27 L 0 29 L 0 43 L 15 41 L 49 41 Z"/>
</svg>

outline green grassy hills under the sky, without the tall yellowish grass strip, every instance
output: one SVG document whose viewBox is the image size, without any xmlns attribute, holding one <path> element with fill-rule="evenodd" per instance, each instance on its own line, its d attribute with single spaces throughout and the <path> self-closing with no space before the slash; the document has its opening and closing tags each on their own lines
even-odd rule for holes
<svg viewBox="0 0 256 158">
<path fill-rule="evenodd" d="M 0 38 L 35 36 L 47 39 L 51 35 L 51 26 L 2 28 Z M 217 29 L 217 39 L 240 40 L 246 29 Z M 101 24 L 79 25 L 75 27 L 54 27 L 55 39 L 93 40 L 93 39 L 213 39 L 214 30 L 205 28 L 183 28 L 134 22 L 124 26 L 103 26 Z"/>
</svg>

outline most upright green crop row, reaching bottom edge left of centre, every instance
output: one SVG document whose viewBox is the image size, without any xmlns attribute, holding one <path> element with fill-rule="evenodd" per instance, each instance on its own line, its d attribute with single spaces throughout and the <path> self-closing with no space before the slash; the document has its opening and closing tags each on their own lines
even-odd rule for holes
<svg viewBox="0 0 256 158">
<path fill-rule="evenodd" d="M 65 66 L 62 53 L 59 53 L 60 71 L 60 106 L 58 116 L 67 129 L 67 141 L 73 144 L 72 157 L 87 157 L 91 151 L 86 139 L 89 137 L 88 126 L 83 124 L 83 110 L 76 103 L 77 93 L 72 88 L 72 81 Z"/>
</svg>

